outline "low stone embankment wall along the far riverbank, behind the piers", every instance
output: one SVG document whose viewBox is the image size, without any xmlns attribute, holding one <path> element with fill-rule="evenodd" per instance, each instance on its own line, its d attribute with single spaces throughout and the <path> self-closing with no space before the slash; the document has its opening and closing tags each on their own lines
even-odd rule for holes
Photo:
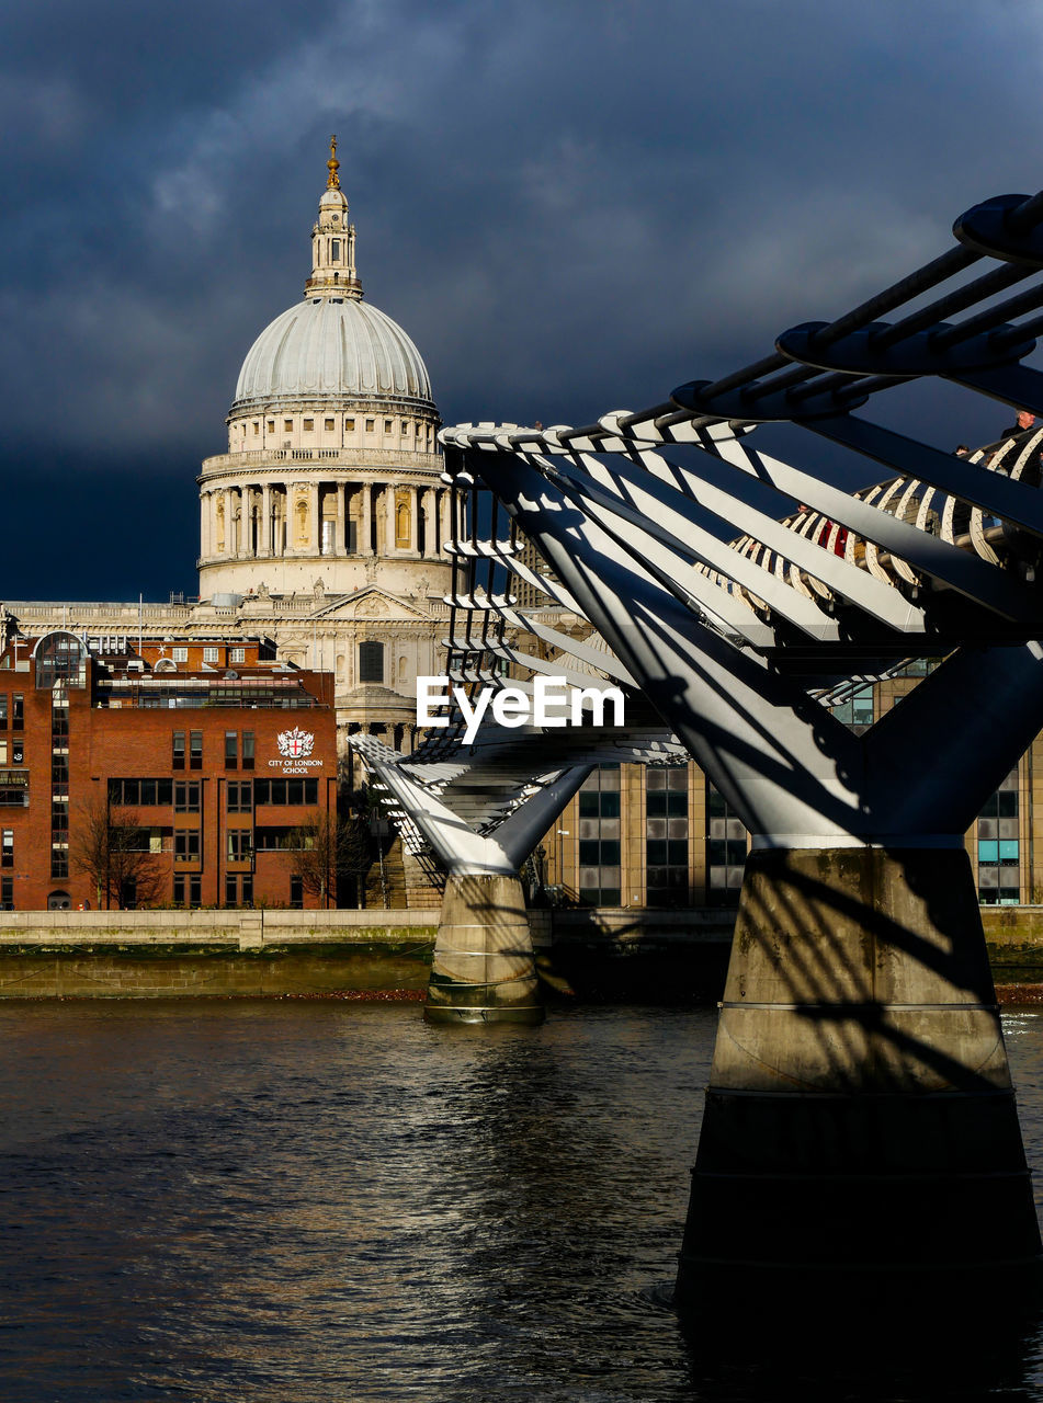
<svg viewBox="0 0 1043 1403">
<path fill-rule="evenodd" d="M 1043 986 L 1043 906 L 983 909 L 995 982 Z M 715 1000 L 734 912 L 563 909 L 529 913 L 552 992 Z M 432 911 L 0 912 L 0 999 L 420 996 Z"/>
</svg>

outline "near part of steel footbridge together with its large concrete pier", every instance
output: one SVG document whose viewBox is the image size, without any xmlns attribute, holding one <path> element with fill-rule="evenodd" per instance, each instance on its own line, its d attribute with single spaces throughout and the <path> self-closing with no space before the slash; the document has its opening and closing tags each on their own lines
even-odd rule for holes
<svg viewBox="0 0 1043 1403">
<path fill-rule="evenodd" d="M 1043 723 L 1043 435 L 959 456 L 858 412 L 943 380 L 1043 414 L 1025 363 L 1043 192 L 953 233 L 846 314 L 650 408 L 442 431 L 452 671 L 623 680 L 752 835 L 682 1309 L 726 1270 L 956 1280 L 1039 1260 L 963 835 Z M 792 460 L 757 448 L 772 424 Z M 519 584 L 588 627 L 550 627 Z M 863 735 L 831 714 L 845 679 L 903 658 L 938 665 Z"/>
</svg>

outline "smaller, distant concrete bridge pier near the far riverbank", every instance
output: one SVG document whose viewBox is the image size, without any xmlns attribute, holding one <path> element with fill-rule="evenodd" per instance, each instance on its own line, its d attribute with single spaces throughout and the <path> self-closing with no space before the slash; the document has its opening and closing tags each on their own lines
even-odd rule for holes
<svg viewBox="0 0 1043 1403">
<path fill-rule="evenodd" d="M 428 1023 L 542 1023 L 525 894 L 503 873 L 451 873 L 438 923 Z"/>
</svg>

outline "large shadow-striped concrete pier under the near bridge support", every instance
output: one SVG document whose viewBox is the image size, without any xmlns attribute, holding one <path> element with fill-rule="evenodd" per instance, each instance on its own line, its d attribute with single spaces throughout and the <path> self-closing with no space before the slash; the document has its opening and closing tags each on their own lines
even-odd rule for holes
<svg viewBox="0 0 1043 1403">
<path fill-rule="evenodd" d="M 751 853 L 678 1308 L 722 1267 L 830 1291 L 1039 1254 L 963 847 Z"/>
</svg>

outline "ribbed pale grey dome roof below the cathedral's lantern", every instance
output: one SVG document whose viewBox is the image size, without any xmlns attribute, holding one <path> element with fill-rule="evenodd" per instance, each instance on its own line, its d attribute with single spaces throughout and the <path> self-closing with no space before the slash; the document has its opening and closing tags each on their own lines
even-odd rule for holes
<svg viewBox="0 0 1043 1403">
<path fill-rule="evenodd" d="M 431 379 L 397 323 L 359 297 L 309 297 L 277 317 L 247 352 L 232 417 L 285 400 L 421 401 L 434 412 Z"/>
</svg>

